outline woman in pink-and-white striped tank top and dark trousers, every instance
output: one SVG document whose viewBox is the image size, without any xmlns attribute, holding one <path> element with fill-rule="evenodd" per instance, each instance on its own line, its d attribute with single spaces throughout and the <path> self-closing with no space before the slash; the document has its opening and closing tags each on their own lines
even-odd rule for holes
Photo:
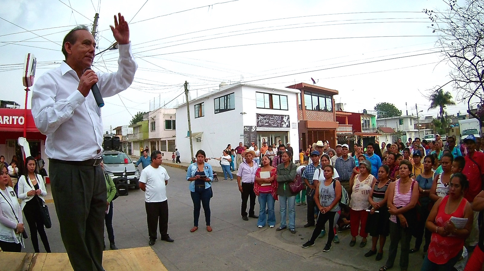
<svg viewBox="0 0 484 271">
<path fill-rule="evenodd" d="M 408 252 L 412 238 L 412 228 L 415 226 L 415 205 L 419 199 L 419 185 L 410 178 L 412 164 L 408 160 L 400 162 L 400 179 L 388 186 L 388 212 L 390 215 L 390 248 L 386 265 L 379 270 L 386 271 L 393 267 L 398 243 L 400 240 L 400 270 L 408 269 Z"/>
</svg>

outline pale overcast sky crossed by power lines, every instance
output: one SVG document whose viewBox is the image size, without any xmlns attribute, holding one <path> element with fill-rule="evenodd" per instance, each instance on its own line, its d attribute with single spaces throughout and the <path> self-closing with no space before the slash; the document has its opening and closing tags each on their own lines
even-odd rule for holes
<svg viewBox="0 0 484 271">
<path fill-rule="evenodd" d="M 128 125 L 150 103 L 168 108 L 182 103 L 185 81 L 195 98 L 221 82 L 285 87 L 312 84 L 314 78 L 317 86 L 339 91 L 334 99 L 345 111 L 390 102 L 403 114 L 416 114 L 417 107 L 422 116 L 438 113 L 428 109 L 428 89 L 449 81 L 450 66 L 422 12 L 444 11 L 442 0 L 164 2 L 2 0 L 0 100 L 23 108 L 25 55 L 37 57 L 36 77 L 58 67 L 65 34 L 76 25 L 91 26 L 95 13 L 100 14 L 96 53 L 108 48 L 114 42 L 109 25 L 118 12 L 130 22 L 138 70 L 131 87 L 104 99 L 105 130 Z M 98 55 L 93 69 L 117 71 L 118 56 L 117 50 Z M 444 90 L 455 98 L 451 87 Z M 466 112 L 467 103 L 456 103 L 448 114 Z"/>
</svg>

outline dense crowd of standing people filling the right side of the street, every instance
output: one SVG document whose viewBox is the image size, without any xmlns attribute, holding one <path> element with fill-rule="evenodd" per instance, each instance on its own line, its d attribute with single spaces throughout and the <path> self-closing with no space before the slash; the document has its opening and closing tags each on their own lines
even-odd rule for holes
<svg viewBox="0 0 484 271">
<path fill-rule="evenodd" d="M 352 154 L 348 144 L 333 149 L 328 142 L 318 141 L 305 151 L 300 149 L 299 166 L 292 162 L 287 145 L 264 144 L 258 153 L 252 145 L 239 143 L 233 150 L 230 145 L 224 150 L 225 157 L 237 161 L 243 220 L 256 218 L 258 228 L 274 228 L 274 205 L 279 200 L 281 220 L 275 230 L 296 233 L 295 205 L 302 204 L 307 206 L 304 227 L 314 227 L 303 248 L 326 235 L 328 222 L 324 252 L 333 242 L 339 243 L 337 232 L 350 228 L 349 246 L 361 238 L 359 246 L 364 248 L 371 236 L 365 257 L 376 255 L 379 261 L 388 253 L 380 271 L 393 267 L 399 244 L 401 270 L 408 269 L 409 254 L 418 254 L 422 244 L 422 271 L 481 270 L 484 232 L 477 221 L 484 210 L 484 153 L 474 136 L 469 135 L 459 147 L 454 137 L 447 138 L 445 145 L 439 137 L 432 142 L 398 139 L 382 143 L 381 148 L 375 143 L 355 144 Z M 304 189 L 294 188 L 299 183 Z M 200 205 L 195 200 L 194 206 L 198 214 Z M 387 237 L 390 244 L 385 250 Z M 410 248 L 412 237 L 415 246 Z"/>
</svg>

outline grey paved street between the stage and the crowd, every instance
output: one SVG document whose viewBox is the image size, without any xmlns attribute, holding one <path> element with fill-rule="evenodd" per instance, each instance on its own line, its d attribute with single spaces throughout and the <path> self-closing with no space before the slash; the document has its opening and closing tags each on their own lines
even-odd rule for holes
<svg viewBox="0 0 484 271">
<path fill-rule="evenodd" d="M 200 228 L 190 232 L 193 226 L 193 203 L 185 180 L 186 171 L 165 166 L 171 179 L 167 187 L 169 206 L 168 233 L 175 239 L 173 243 L 157 241 L 152 247 L 166 268 L 175 270 L 372 270 L 376 271 L 385 263 L 389 240 L 385 246 L 383 260 L 363 255 L 370 249 L 371 239 L 365 248 L 357 245 L 349 247 L 349 230 L 339 233 L 341 242 L 334 244 L 330 252 L 322 249 L 326 236 L 318 239 L 316 245 L 303 249 L 301 244 L 308 240 L 313 227 L 303 228 L 306 206 L 296 206 L 296 234 L 288 230 L 276 232 L 266 227 L 257 228 L 256 219 L 243 221 L 240 215 L 240 192 L 236 181 L 213 183 L 212 232 L 204 226 L 204 214 L 200 214 Z M 52 252 L 65 252 L 59 233 L 59 224 L 54 204 L 49 203 L 52 228 L 47 230 Z M 114 232 L 118 248 L 132 248 L 148 245 L 144 192 L 129 190 L 129 195 L 114 201 Z M 276 219 L 280 221 L 279 203 L 276 202 Z M 256 203 L 256 213 L 258 203 Z M 277 227 L 277 225 L 276 225 Z M 328 228 L 328 226 L 327 226 Z M 107 241 L 107 233 L 106 242 Z M 40 242 L 40 240 L 39 240 Z M 413 245 L 413 242 L 412 242 Z M 41 252 L 45 252 L 40 244 Z M 26 240 L 23 252 L 33 252 L 32 244 Z M 393 270 L 399 270 L 399 257 Z M 420 270 L 421 252 L 410 255 L 409 270 Z"/>
</svg>

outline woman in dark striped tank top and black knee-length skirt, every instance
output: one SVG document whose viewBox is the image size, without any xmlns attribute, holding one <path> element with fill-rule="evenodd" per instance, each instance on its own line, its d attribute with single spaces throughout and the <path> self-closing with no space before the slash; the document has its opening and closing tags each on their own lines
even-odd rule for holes
<svg viewBox="0 0 484 271">
<path fill-rule="evenodd" d="M 388 185 L 390 184 L 390 179 L 388 179 L 388 173 L 390 168 L 386 165 L 381 166 L 378 169 L 378 181 L 373 185 L 373 190 L 370 191 L 368 195 L 368 201 L 371 204 L 370 214 L 368 215 L 368 220 L 366 220 L 366 229 L 370 236 L 372 237 L 371 250 L 368 251 L 364 256 L 370 257 L 377 254 L 377 242 L 378 237 L 380 239 L 380 249 L 378 250 L 376 260 L 379 261 L 383 257 L 383 246 L 389 232 L 389 221 L 387 207 L 386 191 Z"/>
</svg>

